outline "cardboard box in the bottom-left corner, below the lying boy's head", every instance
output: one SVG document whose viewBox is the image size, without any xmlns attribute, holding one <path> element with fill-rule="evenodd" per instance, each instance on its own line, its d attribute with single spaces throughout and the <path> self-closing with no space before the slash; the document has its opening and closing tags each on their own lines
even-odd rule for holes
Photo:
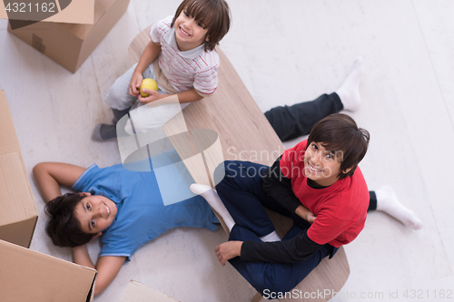
<svg viewBox="0 0 454 302">
<path fill-rule="evenodd" d="M 0 240 L 1 300 L 93 301 L 96 270 Z"/>
</svg>

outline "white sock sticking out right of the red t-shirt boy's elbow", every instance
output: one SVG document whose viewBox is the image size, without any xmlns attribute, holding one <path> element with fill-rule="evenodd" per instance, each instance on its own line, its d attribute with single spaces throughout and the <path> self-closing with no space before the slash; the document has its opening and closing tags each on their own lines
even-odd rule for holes
<svg viewBox="0 0 454 302">
<path fill-rule="evenodd" d="M 377 209 L 388 213 L 395 219 L 400 220 L 404 225 L 411 229 L 421 229 L 422 222 L 413 213 L 412 210 L 405 208 L 398 200 L 396 193 L 390 186 L 384 186 L 380 190 L 376 190 Z"/>
</svg>

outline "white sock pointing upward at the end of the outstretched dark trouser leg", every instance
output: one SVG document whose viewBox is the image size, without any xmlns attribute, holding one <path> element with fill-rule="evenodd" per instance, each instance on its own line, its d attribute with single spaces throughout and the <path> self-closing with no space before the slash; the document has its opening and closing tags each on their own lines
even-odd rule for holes
<svg viewBox="0 0 454 302">
<path fill-rule="evenodd" d="M 358 57 L 353 63 L 351 72 L 342 83 L 336 93 L 338 93 L 343 104 L 343 109 L 350 112 L 356 112 L 360 107 L 360 82 L 362 77 L 362 62 L 364 58 Z"/>
</svg>

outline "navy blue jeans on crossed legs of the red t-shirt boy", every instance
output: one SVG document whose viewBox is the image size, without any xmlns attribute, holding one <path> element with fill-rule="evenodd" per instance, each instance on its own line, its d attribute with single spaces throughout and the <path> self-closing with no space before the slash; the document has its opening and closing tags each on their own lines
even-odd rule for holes
<svg viewBox="0 0 454 302">
<path fill-rule="evenodd" d="M 224 169 L 225 177 L 216 181 L 216 190 L 236 223 L 229 240 L 262 241 L 260 237 L 271 233 L 274 226 L 264 208 L 293 219 L 293 227 L 282 240 L 309 229 L 309 222 L 284 209 L 262 190 L 260 172 L 267 170 L 267 166 L 249 161 L 225 161 Z M 214 175 L 216 177 L 217 173 Z M 296 263 L 248 262 L 240 257 L 232 258 L 230 263 L 263 295 L 265 289 L 276 293 L 291 291 L 319 265 L 322 258 L 334 255 L 336 251 L 337 248 L 333 250 L 326 244 L 310 258 Z"/>
</svg>

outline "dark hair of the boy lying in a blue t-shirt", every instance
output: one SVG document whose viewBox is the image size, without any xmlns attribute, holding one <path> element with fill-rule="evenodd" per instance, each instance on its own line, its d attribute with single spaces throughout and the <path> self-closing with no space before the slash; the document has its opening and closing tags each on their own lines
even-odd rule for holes
<svg viewBox="0 0 454 302">
<path fill-rule="evenodd" d="M 74 248 L 90 242 L 96 236 L 85 233 L 81 229 L 80 221 L 74 217 L 75 206 L 84 197 L 84 194 L 80 193 L 67 193 L 45 205 L 45 213 L 50 218 L 45 231 L 55 246 Z"/>
</svg>

